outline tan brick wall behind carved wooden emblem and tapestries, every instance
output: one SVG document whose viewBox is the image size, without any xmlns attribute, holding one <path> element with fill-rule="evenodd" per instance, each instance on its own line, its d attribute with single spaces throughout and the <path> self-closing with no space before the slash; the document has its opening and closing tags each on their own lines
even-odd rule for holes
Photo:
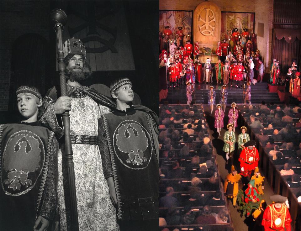
<svg viewBox="0 0 301 231">
<path fill-rule="evenodd" d="M 200 0 L 160 0 L 160 10 L 194 10 Z M 255 33 L 257 34 L 257 22 L 264 23 L 264 37 L 257 37 L 258 50 L 261 51 L 266 72 L 269 72 L 272 49 L 272 22 L 273 22 L 273 0 L 255 0 L 246 7 L 240 0 L 210 0 L 215 3 L 221 11 L 232 12 L 254 12 Z"/>
</svg>

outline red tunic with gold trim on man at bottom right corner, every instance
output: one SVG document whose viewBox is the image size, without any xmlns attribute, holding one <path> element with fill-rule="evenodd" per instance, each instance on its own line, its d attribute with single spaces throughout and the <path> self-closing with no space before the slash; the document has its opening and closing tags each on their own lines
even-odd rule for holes
<svg viewBox="0 0 301 231">
<path fill-rule="evenodd" d="M 281 208 L 276 208 L 274 204 L 269 205 L 263 212 L 261 225 L 265 231 L 291 231 L 291 215 L 285 205 Z M 276 223 L 276 224 L 275 224 Z"/>
</svg>

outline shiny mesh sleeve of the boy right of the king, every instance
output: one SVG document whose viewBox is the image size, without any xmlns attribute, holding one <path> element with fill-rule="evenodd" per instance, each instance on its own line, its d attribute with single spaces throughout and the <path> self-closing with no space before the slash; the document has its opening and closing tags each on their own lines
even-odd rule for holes
<svg viewBox="0 0 301 231">
<path fill-rule="evenodd" d="M 106 179 L 113 176 L 112 162 L 108 147 L 107 134 L 104 128 L 103 118 L 98 119 L 98 147 L 103 164 L 103 175 Z"/>
</svg>

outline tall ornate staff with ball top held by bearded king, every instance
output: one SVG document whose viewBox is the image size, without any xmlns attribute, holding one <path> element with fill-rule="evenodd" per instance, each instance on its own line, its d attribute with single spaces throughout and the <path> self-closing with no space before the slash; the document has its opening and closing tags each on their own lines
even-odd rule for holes
<svg viewBox="0 0 301 231">
<path fill-rule="evenodd" d="M 56 43 L 57 43 L 57 62 L 58 70 L 60 73 L 60 85 L 61 85 L 61 96 L 67 96 L 66 87 L 66 64 L 63 52 L 63 41 L 62 41 L 62 31 L 64 25 L 67 22 L 67 15 L 61 9 L 54 9 L 49 15 L 50 23 L 53 25 L 56 32 Z M 69 112 L 65 111 L 62 114 L 62 120 L 64 125 L 64 135 L 65 135 L 65 161 L 66 161 L 66 173 L 69 192 L 69 200 L 65 199 L 66 205 L 69 201 L 68 206 L 70 207 L 70 230 L 78 231 L 78 215 L 77 215 L 77 200 L 76 200 L 76 188 L 75 188 L 75 174 L 74 174 L 74 163 L 73 163 L 73 152 L 70 139 L 70 117 Z"/>
</svg>

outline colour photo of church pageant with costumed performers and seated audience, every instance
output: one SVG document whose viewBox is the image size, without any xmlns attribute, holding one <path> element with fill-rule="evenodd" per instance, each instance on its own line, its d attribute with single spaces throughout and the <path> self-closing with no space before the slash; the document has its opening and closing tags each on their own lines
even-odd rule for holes
<svg viewBox="0 0 301 231">
<path fill-rule="evenodd" d="M 159 8 L 160 231 L 300 231 L 301 1 Z"/>
</svg>

